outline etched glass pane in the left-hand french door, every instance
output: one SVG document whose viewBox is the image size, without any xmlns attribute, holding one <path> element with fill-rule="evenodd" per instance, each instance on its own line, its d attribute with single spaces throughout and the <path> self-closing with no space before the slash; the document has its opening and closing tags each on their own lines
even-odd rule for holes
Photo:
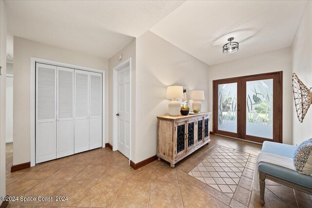
<svg viewBox="0 0 312 208">
<path fill-rule="evenodd" d="M 218 85 L 218 130 L 237 133 L 237 83 Z"/>
</svg>

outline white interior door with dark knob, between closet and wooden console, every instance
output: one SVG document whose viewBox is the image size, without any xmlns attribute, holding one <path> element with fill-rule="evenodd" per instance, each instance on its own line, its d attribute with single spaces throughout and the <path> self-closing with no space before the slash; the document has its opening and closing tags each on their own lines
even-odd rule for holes
<svg viewBox="0 0 312 208">
<path fill-rule="evenodd" d="M 117 149 L 130 156 L 130 67 L 118 70 Z"/>
</svg>

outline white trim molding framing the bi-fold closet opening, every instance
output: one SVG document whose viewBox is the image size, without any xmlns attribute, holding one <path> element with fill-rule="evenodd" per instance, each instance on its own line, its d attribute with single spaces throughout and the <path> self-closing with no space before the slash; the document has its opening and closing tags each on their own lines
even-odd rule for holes
<svg viewBox="0 0 312 208">
<path fill-rule="evenodd" d="M 33 167 L 36 165 L 36 62 L 85 70 L 89 72 L 97 72 L 102 74 L 102 148 L 104 148 L 105 142 L 107 141 L 107 135 L 105 132 L 105 71 L 36 57 L 30 57 L 30 166 Z"/>
</svg>

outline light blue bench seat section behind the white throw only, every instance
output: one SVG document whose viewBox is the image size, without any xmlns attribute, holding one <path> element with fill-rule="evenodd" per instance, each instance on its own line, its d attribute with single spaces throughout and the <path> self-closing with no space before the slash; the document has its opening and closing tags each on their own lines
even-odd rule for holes
<svg viewBox="0 0 312 208">
<path fill-rule="evenodd" d="M 284 157 L 293 158 L 293 153 L 296 149 L 296 146 L 265 141 L 263 142 L 261 152 L 278 154 Z"/>
</svg>

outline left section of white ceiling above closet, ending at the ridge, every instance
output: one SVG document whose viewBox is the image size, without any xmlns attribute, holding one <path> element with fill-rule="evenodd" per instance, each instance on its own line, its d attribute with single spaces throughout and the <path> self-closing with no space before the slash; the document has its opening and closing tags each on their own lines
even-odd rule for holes
<svg viewBox="0 0 312 208">
<path fill-rule="evenodd" d="M 8 32 L 109 58 L 183 2 L 7 0 Z"/>
</svg>

